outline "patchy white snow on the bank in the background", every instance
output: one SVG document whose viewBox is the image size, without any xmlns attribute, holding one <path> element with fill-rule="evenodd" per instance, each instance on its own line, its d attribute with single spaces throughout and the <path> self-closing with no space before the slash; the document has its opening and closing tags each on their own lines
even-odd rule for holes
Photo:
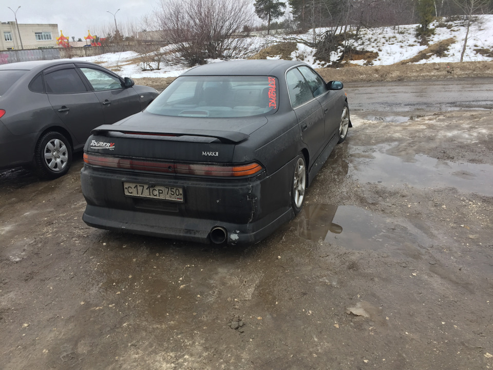
<svg viewBox="0 0 493 370">
<path fill-rule="evenodd" d="M 445 25 L 448 27 L 445 27 Z M 427 48 L 427 46 L 420 45 L 419 40 L 416 39 L 415 33 L 417 26 L 418 25 L 405 25 L 399 27 L 363 29 L 360 32 L 361 39 L 353 44 L 353 48 L 378 52 L 378 57 L 372 61 L 359 60 L 352 61 L 351 63 L 363 65 L 371 62 L 372 65 L 389 65 L 414 57 L 416 54 Z M 438 57 L 437 55 L 433 55 L 429 59 L 421 60 L 418 63 L 459 62 L 466 34 L 465 27 L 461 26 L 458 22 L 442 23 L 441 26 L 439 26 L 437 21 L 432 24 L 432 27 L 435 28 L 435 34 L 429 39 L 430 45 L 450 38 L 453 38 L 454 40 L 446 52 L 446 56 Z M 324 30 L 317 29 L 316 31 L 320 34 Z M 308 41 L 312 41 L 312 37 L 312 30 L 304 35 L 297 35 L 297 38 Z M 269 36 L 269 38 L 254 36 L 246 40 L 250 43 L 250 49 L 253 55 L 263 47 L 285 41 L 285 38 L 282 35 Z M 475 51 L 475 49 L 480 48 L 493 50 L 493 15 L 483 15 L 481 22 L 471 26 L 467 49 L 464 54 L 464 61 L 493 60 L 493 58 L 486 57 Z M 326 63 L 320 63 L 314 58 L 314 53 L 315 49 L 298 43 L 297 50 L 291 54 L 291 58 L 293 60 L 302 60 L 315 68 L 325 66 Z M 340 57 L 340 54 L 340 52 L 334 52 L 331 56 L 331 60 L 336 61 Z M 96 62 L 104 67 L 117 69 L 119 75 L 131 78 L 177 77 L 187 70 L 187 68 L 183 66 L 167 66 L 161 63 L 161 69 L 159 70 L 143 71 L 141 68 L 142 64 L 136 63 L 138 57 L 138 53 L 126 51 L 77 59 Z M 280 57 L 273 57 L 270 59 L 279 58 Z M 210 62 L 221 62 L 221 60 L 211 60 Z"/>
</svg>

